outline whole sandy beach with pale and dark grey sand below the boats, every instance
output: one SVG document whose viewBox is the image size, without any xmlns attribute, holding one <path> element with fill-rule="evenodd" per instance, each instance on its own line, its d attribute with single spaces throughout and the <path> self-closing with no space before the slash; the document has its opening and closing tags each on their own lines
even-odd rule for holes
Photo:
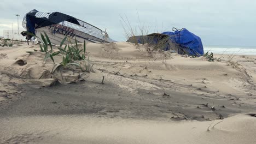
<svg viewBox="0 0 256 144">
<path fill-rule="evenodd" d="M 0 48 L 0 143 L 256 143 L 255 56 L 88 43 L 94 73 L 60 84 L 39 50 Z"/>
</svg>

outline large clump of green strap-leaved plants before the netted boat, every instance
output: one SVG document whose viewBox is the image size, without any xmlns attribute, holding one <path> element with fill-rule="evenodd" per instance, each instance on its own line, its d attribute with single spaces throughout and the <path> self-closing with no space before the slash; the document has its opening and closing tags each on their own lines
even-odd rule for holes
<svg viewBox="0 0 256 144">
<path fill-rule="evenodd" d="M 48 37 L 48 35 L 44 32 L 45 35 L 40 34 L 42 38 L 42 44 L 40 44 L 40 50 L 34 50 L 34 51 L 40 51 L 45 52 L 44 57 L 44 63 L 48 57 L 52 59 L 52 61 L 55 64 L 54 56 L 62 55 L 62 62 L 59 64 L 55 64 L 53 69 L 51 70 L 51 75 L 54 76 L 56 79 L 61 79 L 61 83 L 65 83 L 66 79 L 63 77 L 62 72 L 66 70 L 71 70 L 73 73 L 77 70 L 79 70 L 78 79 L 80 78 L 80 71 L 87 71 L 90 73 L 90 71 L 94 72 L 91 68 L 89 57 L 85 57 L 86 53 L 86 43 L 84 41 L 83 49 L 80 50 L 77 39 L 75 38 L 75 44 L 71 43 L 71 40 L 69 40 L 69 43 L 65 45 L 65 47 L 62 47 L 63 44 L 66 42 L 67 37 L 63 38 L 60 44 L 60 47 L 58 47 L 59 51 L 53 52 L 53 45 L 51 44 L 51 41 Z M 36 35 L 31 34 L 33 37 L 36 37 Z M 38 37 L 37 37 L 38 38 Z M 40 38 L 38 38 L 40 39 Z M 49 47 L 48 47 L 49 44 Z M 28 53 L 32 53 L 32 51 L 28 51 Z M 83 63 L 84 62 L 84 63 Z M 84 64 L 84 67 L 81 67 L 82 64 Z M 73 67 L 70 67 L 72 66 Z M 43 76 L 44 74 L 42 74 Z M 41 76 L 41 77 L 42 77 Z M 61 77 L 59 77 L 61 76 Z M 40 78 L 41 78 L 40 77 Z M 59 77 L 59 78 L 58 78 Z"/>
</svg>

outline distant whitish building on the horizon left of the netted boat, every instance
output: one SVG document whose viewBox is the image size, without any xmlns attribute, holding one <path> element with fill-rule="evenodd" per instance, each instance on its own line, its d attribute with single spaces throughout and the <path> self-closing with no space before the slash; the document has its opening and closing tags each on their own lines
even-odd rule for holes
<svg viewBox="0 0 256 144">
<path fill-rule="evenodd" d="M 18 30 L 3 30 L 3 37 L 5 39 L 26 41 L 26 38 L 20 34 L 21 32 L 22 30 L 20 30 L 19 32 Z"/>
</svg>

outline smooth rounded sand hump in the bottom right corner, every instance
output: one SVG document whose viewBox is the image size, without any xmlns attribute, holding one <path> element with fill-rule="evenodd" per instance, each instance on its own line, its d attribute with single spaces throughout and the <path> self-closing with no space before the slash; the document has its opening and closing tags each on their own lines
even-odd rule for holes
<svg viewBox="0 0 256 144">
<path fill-rule="evenodd" d="M 255 143 L 255 113 L 236 115 L 211 124 L 206 133 L 202 133 L 199 142 L 205 143 Z M 200 140 L 202 139 L 203 140 Z"/>
</svg>

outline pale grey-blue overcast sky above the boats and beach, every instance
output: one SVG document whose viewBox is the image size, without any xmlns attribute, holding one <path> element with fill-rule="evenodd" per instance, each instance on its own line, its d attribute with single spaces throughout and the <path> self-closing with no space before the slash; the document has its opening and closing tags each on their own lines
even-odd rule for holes
<svg viewBox="0 0 256 144">
<path fill-rule="evenodd" d="M 132 26 L 138 26 L 140 21 L 150 27 L 150 32 L 185 27 L 201 37 L 204 46 L 256 46 L 254 0 L 1 0 L 0 36 L 3 29 L 11 29 L 11 23 L 17 29 L 15 14 L 20 15 L 21 29 L 24 15 L 32 9 L 59 11 L 107 28 L 110 37 L 117 41 L 126 40 L 120 16 L 127 16 Z"/>
</svg>

